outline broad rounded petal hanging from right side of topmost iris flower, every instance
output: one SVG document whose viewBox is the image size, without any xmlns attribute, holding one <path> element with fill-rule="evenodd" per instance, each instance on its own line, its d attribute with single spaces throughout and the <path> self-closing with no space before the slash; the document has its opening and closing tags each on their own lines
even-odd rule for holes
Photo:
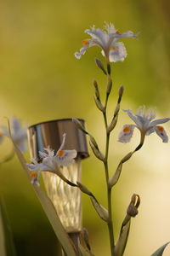
<svg viewBox="0 0 170 256">
<path fill-rule="evenodd" d="M 124 61 L 127 56 L 127 50 L 122 42 L 114 43 L 109 51 L 109 60 L 111 62 Z"/>
</svg>

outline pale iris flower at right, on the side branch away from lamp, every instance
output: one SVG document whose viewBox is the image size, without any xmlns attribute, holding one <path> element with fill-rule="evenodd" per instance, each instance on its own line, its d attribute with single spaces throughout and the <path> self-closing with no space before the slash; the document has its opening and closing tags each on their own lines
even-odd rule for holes
<svg viewBox="0 0 170 256">
<path fill-rule="evenodd" d="M 161 137 L 163 143 L 168 142 L 167 133 L 164 128 L 160 125 L 169 121 L 166 119 L 156 119 L 156 114 L 153 109 L 149 109 L 147 112 L 145 107 L 140 107 L 136 114 L 133 114 L 130 109 L 123 110 L 128 114 L 128 116 L 133 119 L 135 125 L 123 125 L 122 131 L 119 134 L 118 141 L 121 143 L 128 143 L 133 136 L 134 127 L 138 128 L 143 137 L 145 135 L 150 135 L 152 132 L 156 131 L 156 134 Z"/>
</svg>

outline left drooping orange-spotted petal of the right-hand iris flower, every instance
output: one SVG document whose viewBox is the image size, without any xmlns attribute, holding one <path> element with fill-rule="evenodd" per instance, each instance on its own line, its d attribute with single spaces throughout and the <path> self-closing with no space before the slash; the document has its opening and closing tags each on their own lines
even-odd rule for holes
<svg viewBox="0 0 170 256">
<path fill-rule="evenodd" d="M 133 137 L 133 130 L 135 125 L 123 125 L 122 131 L 119 134 L 118 142 L 120 143 L 129 143 Z"/>
</svg>

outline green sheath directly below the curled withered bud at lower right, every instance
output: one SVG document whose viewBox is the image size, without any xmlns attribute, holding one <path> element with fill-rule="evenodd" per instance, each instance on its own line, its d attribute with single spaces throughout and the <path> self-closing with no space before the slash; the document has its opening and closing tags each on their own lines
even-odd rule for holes
<svg viewBox="0 0 170 256">
<path fill-rule="evenodd" d="M 127 245 L 128 234 L 130 230 L 130 218 L 125 225 L 122 225 L 120 236 L 116 242 L 115 256 L 122 256 Z"/>
</svg>

